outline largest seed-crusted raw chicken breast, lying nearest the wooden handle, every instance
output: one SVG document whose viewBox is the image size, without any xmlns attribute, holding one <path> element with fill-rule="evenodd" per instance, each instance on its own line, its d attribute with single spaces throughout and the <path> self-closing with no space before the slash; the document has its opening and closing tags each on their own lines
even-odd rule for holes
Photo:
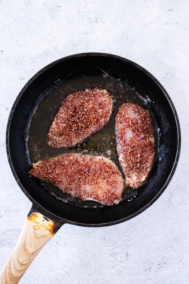
<svg viewBox="0 0 189 284">
<path fill-rule="evenodd" d="M 100 156 L 66 153 L 33 164 L 29 173 L 83 201 L 110 206 L 120 202 L 124 187 L 117 166 Z"/>
</svg>

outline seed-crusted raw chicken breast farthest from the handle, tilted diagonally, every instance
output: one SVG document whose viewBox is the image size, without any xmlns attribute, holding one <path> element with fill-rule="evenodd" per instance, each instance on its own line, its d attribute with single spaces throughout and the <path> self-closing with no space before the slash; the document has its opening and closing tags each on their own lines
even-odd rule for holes
<svg viewBox="0 0 189 284">
<path fill-rule="evenodd" d="M 75 146 L 106 125 L 112 111 L 113 100 L 106 90 L 85 89 L 67 95 L 49 128 L 48 144 Z"/>
</svg>

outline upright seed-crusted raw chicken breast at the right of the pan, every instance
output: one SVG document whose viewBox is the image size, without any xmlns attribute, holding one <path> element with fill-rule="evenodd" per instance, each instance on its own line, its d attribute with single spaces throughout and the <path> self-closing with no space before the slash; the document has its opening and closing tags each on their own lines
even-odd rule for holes
<svg viewBox="0 0 189 284">
<path fill-rule="evenodd" d="M 138 188 L 148 177 L 155 157 L 155 135 L 147 109 L 125 103 L 116 115 L 116 139 L 125 185 Z"/>
</svg>

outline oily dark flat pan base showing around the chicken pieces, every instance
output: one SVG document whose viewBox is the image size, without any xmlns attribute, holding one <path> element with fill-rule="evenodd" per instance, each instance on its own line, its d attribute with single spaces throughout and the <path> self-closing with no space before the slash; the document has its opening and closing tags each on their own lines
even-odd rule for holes
<svg viewBox="0 0 189 284">
<path fill-rule="evenodd" d="M 61 82 L 61 79 L 59 79 L 54 83 L 54 88 L 47 92 L 45 96 L 41 96 L 41 100 L 37 101 L 37 105 L 33 111 L 30 121 L 30 127 L 28 128 L 27 143 L 31 164 L 36 163 L 39 160 L 55 157 L 67 152 L 82 153 L 90 155 L 102 155 L 104 157 L 110 158 L 113 162 L 115 162 L 122 173 L 122 169 L 118 161 L 118 154 L 116 151 L 115 137 L 115 115 L 118 111 L 118 106 L 125 102 L 131 101 L 133 103 L 142 105 L 144 108 L 149 109 L 149 111 L 151 112 L 148 106 L 150 99 L 148 97 L 143 98 L 138 92 L 128 87 L 126 82 L 121 82 L 120 80 L 114 79 L 113 77 L 110 77 L 106 72 L 104 72 L 103 75 L 104 76 L 101 77 L 82 76 L 81 78 L 71 79 L 67 82 Z M 73 91 L 95 87 L 106 89 L 108 92 L 110 92 L 114 100 L 114 111 L 107 125 L 104 126 L 100 131 L 92 134 L 89 138 L 84 140 L 83 143 L 80 143 L 75 147 L 53 148 L 49 146 L 47 144 L 49 125 L 52 123 L 52 119 L 65 96 Z M 158 131 L 152 112 L 151 117 L 155 130 L 158 149 Z M 123 173 L 122 176 L 124 178 Z M 38 183 L 39 181 L 36 179 L 36 182 Z M 103 206 L 98 202 L 84 202 L 82 200 L 79 200 L 78 198 L 72 197 L 69 194 L 62 193 L 62 191 L 58 190 L 56 187 L 45 182 L 43 182 L 43 185 L 44 190 L 46 190 L 47 193 L 51 194 L 54 198 L 62 200 L 62 202 L 68 202 L 72 205 L 91 208 Z M 133 190 L 131 188 L 124 188 L 122 200 L 135 198 L 136 194 L 136 190 Z"/>
</svg>

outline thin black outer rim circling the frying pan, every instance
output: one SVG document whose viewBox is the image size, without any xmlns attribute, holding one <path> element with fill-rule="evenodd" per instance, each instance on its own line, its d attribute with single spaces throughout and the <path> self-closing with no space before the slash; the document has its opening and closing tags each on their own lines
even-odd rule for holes
<svg viewBox="0 0 189 284">
<path fill-rule="evenodd" d="M 75 223 L 75 222 L 71 222 L 69 220 L 65 220 L 65 219 L 62 219 L 54 214 L 52 214 L 51 212 L 47 211 L 45 208 L 43 208 L 40 204 L 38 204 L 36 201 L 34 201 L 32 199 L 32 197 L 26 192 L 26 190 L 24 189 L 24 187 L 22 186 L 22 184 L 20 183 L 17 175 L 15 174 L 15 171 L 14 171 L 14 168 L 13 168 L 13 165 L 12 165 L 12 162 L 11 162 L 11 157 L 10 157 L 10 151 L 9 151 L 9 142 L 8 142 L 8 137 L 9 137 L 9 127 L 10 127 L 10 123 L 11 123 L 11 118 L 12 118 L 12 114 L 14 112 L 14 109 L 15 109 L 15 106 L 20 98 L 20 96 L 22 95 L 22 93 L 25 91 L 25 89 L 31 84 L 31 82 L 37 78 L 41 73 L 43 73 L 45 70 L 49 69 L 50 67 L 52 67 L 53 65 L 56 65 L 58 62 L 62 62 L 62 61 L 65 61 L 65 60 L 68 60 L 70 58 L 73 58 L 73 57 L 81 57 L 81 56 L 88 56 L 88 55 L 99 55 L 99 56 L 106 56 L 106 57 L 113 57 L 113 58 L 117 58 L 117 59 L 120 59 L 122 61 L 125 61 L 125 62 L 129 62 L 130 64 L 134 65 L 135 67 L 141 69 L 144 73 L 146 73 L 150 78 L 152 78 L 152 80 L 154 82 L 156 82 L 156 84 L 161 88 L 161 90 L 164 92 L 165 96 L 167 97 L 168 101 L 170 102 L 170 105 L 173 109 L 173 113 L 174 113 L 174 116 L 175 116 L 175 120 L 176 120 L 176 123 L 177 123 L 177 132 L 178 132 L 178 147 L 177 147 L 177 156 L 175 158 L 175 161 L 174 161 L 174 166 L 172 168 L 172 171 L 165 183 L 165 185 L 163 186 L 163 188 L 160 189 L 159 193 L 157 193 L 157 195 L 151 200 L 151 202 L 149 202 L 147 205 L 145 205 L 142 209 L 140 209 L 138 212 L 128 216 L 127 218 L 124 218 L 124 219 L 121 219 L 121 220 L 118 220 L 118 221 L 114 221 L 114 222 L 110 222 L 110 223 L 104 223 L 104 224 L 82 224 L 82 223 Z M 45 212 L 45 214 L 48 214 L 48 217 L 49 218 L 53 218 L 54 220 L 57 221 L 57 223 L 68 223 L 68 224 L 73 224 L 73 225 L 78 225 L 78 226 L 84 226 L 84 227 L 105 227 L 105 226 L 110 226 L 110 225 L 115 225 L 115 224 L 119 224 L 119 223 L 122 223 L 122 222 L 125 222 L 127 220 L 130 220 L 132 218 L 134 218 L 135 216 L 139 215 L 140 213 L 144 212 L 146 209 L 148 209 L 160 196 L 161 194 L 165 191 L 165 189 L 167 188 L 168 184 L 170 183 L 173 175 L 174 175 L 174 172 L 176 170 L 176 167 L 177 167 L 177 164 L 178 164 L 178 160 L 179 160 L 179 156 L 180 156 L 180 149 L 181 149 L 181 130 L 180 130 L 180 123 L 179 123 L 179 119 L 178 119 L 178 115 L 177 115 L 177 112 L 176 112 L 176 109 L 174 107 L 174 104 L 170 98 L 170 96 L 168 95 L 167 91 L 165 90 L 165 88 L 161 85 L 161 83 L 150 73 L 148 72 L 146 69 L 144 69 L 142 66 L 140 66 L 139 64 L 129 60 L 129 59 L 126 59 L 126 58 L 123 58 L 121 56 L 118 56 L 118 55 L 113 55 L 113 54 L 109 54 L 109 53 L 99 53 L 99 52 L 87 52 L 87 53 L 78 53 L 78 54 L 74 54 L 74 55 L 68 55 L 66 57 L 63 57 L 63 58 L 60 58 L 58 60 L 55 60 L 54 62 L 46 65 L 44 68 L 42 68 L 41 70 L 39 70 L 25 85 L 24 87 L 21 89 L 21 91 L 19 92 L 18 96 L 16 97 L 15 99 L 15 102 L 11 108 L 11 111 L 10 111 L 10 114 L 9 114 L 9 118 L 8 118 L 8 122 L 7 122 L 7 127 L 6 127 L 6 153 L 7 153 L 7 158 L 8 158 L 8 162 L 9 162 L 9 166 L 11 168 L 11 171 L 12 171 L 12 174 L 17 182 L 17 184 L 19 185 L 20 189 L 22 189 L 22 191 L 24 192 L 24 194 L 28 197 L 28 199 L 32 202 L 32 209 L 33 211 L 36 211 L 38 208 L 42 211 Z"/>
</svg>

